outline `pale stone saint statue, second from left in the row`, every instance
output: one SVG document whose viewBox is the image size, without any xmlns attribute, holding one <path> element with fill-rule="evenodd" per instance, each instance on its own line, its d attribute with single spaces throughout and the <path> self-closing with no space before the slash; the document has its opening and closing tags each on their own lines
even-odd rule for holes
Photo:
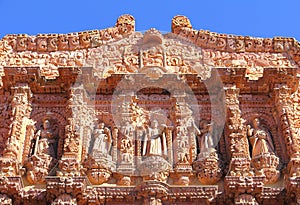
<svg viewBox="0 0 300 205">
<path fill-rule="evenodd" d="M 101 122 L 96 125 L 94 132 L 94 145 L 92 148 L 92 154 L 102 153 L 103 155 L 110 154 L 112 145 L 111 133 L 108 127 L 105 127 L 104 123 Z"/>
</svg>

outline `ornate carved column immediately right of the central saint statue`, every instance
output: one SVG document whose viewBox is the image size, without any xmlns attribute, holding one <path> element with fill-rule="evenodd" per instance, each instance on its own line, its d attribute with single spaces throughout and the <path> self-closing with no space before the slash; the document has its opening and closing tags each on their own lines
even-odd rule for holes
<svg viewBox="0 0 300 205">
<path fill-rule="evenodd" d="M 193 111 L 186 102 L 184 90 L 174 90 L 173 109 L 171 117 L 174 122 L 173 147 L 170 147 L 170 154 L 174 154 L 174 171 L 178 185 L 189 185 L 189 178 L 192 175 L 192 163 L 197 158 L 197 136 L 200 134 L 195 123 Z"/>
</svg>

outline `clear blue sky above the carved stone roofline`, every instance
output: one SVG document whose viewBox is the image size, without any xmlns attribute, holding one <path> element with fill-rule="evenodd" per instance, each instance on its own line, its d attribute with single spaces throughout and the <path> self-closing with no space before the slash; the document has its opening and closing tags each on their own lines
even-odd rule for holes
<svg viewBox="0 0 300 205">
<path fill-rule="evenodd" d="M 0 38 L 6 34 L 69 33 L 103 29 L 131 14 L 136 30 L 171 30 L 187 16 L 195 29 L 255 37 L 300 40 L 299 0 L 0 0 Z"/>
</svg>

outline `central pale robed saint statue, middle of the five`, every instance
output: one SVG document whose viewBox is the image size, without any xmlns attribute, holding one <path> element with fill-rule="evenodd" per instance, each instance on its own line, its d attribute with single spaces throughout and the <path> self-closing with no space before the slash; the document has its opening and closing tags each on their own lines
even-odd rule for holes
<svg viewBox="0 0 300 205">
<path fill-rule="evenodd" d="M 167 143 L 164 132 L 158 127 L 158 121 L 153 120 L 146 130 L 143 146 L 144 156 L 167 156 Z"/>
</svg>

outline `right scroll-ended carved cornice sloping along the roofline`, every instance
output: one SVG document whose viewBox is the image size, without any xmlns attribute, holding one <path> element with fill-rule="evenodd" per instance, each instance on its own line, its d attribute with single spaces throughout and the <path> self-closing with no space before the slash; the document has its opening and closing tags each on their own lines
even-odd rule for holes
<svg viewBox="0 0 300 205">
<path fill-rule="evenodd" d="M 300 64 L 300 42 L 295 38 L 255 38 L 196 30 L 193 29 L 190 20 L 181 15 L 172 19 L 172 33 L 188 39 L 201 48 L 217 51 L 288 53 L 298 65 Z"/>
</svg>

